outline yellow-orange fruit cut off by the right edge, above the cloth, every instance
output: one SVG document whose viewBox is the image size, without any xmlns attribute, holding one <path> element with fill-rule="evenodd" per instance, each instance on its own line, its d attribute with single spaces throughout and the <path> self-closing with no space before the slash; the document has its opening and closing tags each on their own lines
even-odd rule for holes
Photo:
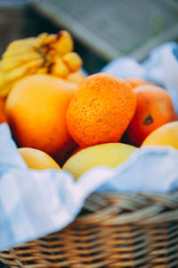
<svg viewBox="0 0 178 268">
<path fill-rule="evenodd" d="M 142 146 L 171 146 L 178 149 L 178 121 L 172 121 L 154 130 L 145 138 Z"/>
</svg>

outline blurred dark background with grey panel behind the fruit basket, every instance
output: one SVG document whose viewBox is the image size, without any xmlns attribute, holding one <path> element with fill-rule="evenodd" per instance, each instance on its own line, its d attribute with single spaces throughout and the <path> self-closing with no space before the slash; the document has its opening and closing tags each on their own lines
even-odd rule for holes
<svg viewBox="0 0 178 268">
<path fill-rule="evenodd" d="M 89 74 L 178 41 L 178 0 L 0 0 L 0 57 L 12 40 L 68 29 Z M 0 267 L 5 267 L 0 264 Z"/>
</svg>

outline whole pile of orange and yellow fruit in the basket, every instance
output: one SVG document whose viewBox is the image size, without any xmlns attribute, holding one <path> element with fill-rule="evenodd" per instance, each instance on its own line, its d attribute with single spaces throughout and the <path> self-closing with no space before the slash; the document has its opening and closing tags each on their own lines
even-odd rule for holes
<svg viewBox="0 0 178 268">
<path fill-rule="evenodd" d="M 69 32 L 12 42 L 0 61 L 0 122 L 28 168 L 77 180 L 115 167 L 138 147 L 178 149 L 178 119 L 164 88 L 101 72 L 85 77 Z"/>
</svg>

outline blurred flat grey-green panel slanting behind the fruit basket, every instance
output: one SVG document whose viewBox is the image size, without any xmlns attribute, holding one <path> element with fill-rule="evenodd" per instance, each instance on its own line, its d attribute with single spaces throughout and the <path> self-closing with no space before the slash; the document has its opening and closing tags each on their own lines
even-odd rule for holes
<svg viewBox="0 0 178 268">
<path fill-rule="evenodd" d="M 142 61 L 154 46 L 178 38 L 177 0 L 34 0 L 34 6 L 110 61 Z"/>
</svg>

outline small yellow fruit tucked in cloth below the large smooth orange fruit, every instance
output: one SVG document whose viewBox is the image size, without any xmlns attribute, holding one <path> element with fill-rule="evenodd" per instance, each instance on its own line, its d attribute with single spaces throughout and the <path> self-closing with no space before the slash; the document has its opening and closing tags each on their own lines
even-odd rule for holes
<svg viewBox="0 0 178 268">
<path fill-rule="evenodd" d="M 47 155 L 41 150 L 22 147 L 18 151 L 23 157 L 28 168 L 34 170 L 45 170 L 45 169 L 57 169 L 60 170 L 60 166 L 53 160 L 50 155 Z"/>
</svg>

